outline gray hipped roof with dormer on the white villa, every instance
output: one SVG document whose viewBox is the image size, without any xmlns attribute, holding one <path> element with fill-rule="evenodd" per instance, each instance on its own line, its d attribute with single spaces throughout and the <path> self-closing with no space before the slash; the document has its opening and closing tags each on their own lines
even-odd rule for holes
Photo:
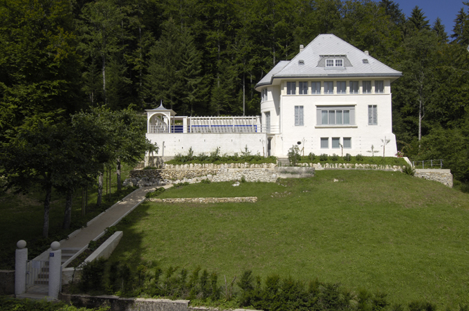
<svg viewBox="0 0 469 311">
<path fill-rule="evenodd" d="M 344 58 L 344 67 L 331 68 L 321 65 L 324 57 Z M 364 59 L 367 61 L 364 62 Z M 303 64 L 300 64 L 300 60 Z M 318 35 L 291 61 L 279 62 L 257 83 L 259 86 L 273 83 L 278 78 L 306 77 L 401 77 L 400 71 L 386 66 L 370 55 L 335 35 Z"/>
</svg>

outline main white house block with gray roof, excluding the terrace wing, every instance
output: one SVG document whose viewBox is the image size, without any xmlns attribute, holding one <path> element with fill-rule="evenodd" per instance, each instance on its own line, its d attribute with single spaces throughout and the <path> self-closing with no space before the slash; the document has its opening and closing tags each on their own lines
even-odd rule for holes
<svg viewBox="0 0 469 311">
<path fill-rule="evenodd" d="M 329 65 L 329 66 L 328 66 Z M 334 35 L 320 35 L 257 84 L 270 153 L 395 156 L 391 83 L 401 73 Z M 264 129 L 264 126 L 263 126 Z M 369 152 L 370 151 L 370 152 Z"/>
</svg>

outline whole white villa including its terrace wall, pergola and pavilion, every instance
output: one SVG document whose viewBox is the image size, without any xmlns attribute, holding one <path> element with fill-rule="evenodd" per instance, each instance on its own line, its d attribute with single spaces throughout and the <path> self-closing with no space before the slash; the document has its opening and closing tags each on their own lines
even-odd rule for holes
<svg viewBox="0 0 469 311">
<path fill-rule="evenodd" d="M 335 37 L 319 35 L 291 61 L 282 61 L 255 86 L 261 116 L 176 117 L 160 105 L 147 110 L 147 138 L 155 156 L 251 153 L 286 157 L 294 144 L 305 155 L 358 153 L 371 145 L 395 156 L 391 83 L 402 73 Z M 342 150 L 343 149 L 343 150 Z M 380 153 L 382 154 L 382 153 Z"/>
</svg>

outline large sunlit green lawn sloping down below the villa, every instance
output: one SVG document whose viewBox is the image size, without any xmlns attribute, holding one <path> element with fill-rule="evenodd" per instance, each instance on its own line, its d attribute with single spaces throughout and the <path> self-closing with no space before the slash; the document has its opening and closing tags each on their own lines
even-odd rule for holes
<svg viewBox="0 0 469 311">
<path fill-rule="evenodd" d="M 385 171 L 317 171 L 280 184 L 169 189 L 160 197 L 259 200 L 145 202 L 118 225 L 124 236 L 111 261 L 200 266 L 221 279 L 251 269 L 379 290 L 391 302 L 469 303 L 468 194 Z"/>
</svg>

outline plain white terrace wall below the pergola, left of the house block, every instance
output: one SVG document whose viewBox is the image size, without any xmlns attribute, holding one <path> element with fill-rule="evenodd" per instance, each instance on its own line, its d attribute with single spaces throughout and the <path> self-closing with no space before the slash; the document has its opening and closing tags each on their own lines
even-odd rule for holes
<svg viewBox="0 0 469 311">
<path fill-rule="evenodd" d="M 147 138 L 158 144 L 159 150 L 154 156 L 186 155 L 191 147 L 196 156 L 210 155 L 217 148 L 221 154 L 234 155 L 244 151 L 246 145 L 252 154 L 264 156 L 267 153 L 265 133 L 147 133 Z"/>
</svg>

